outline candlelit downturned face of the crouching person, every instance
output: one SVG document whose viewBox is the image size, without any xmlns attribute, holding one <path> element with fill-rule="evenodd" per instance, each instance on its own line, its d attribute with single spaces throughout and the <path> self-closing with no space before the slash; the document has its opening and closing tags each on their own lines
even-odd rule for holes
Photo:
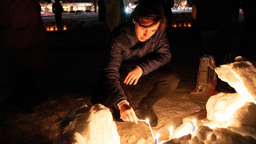
<svg viewBox="0 0 256 144">
<path fill-rule="evenodd" d="M 142 20 L 141 27 L 139 26 L 139 23 L 136 21 L 133 21 L 134 23 L 134 28 L 135 28 L 135 33 L 137 35 L 137 38 L 139 41 L 144 42 L 147 39 L 149 39 L 157 30 L 160 22 L 158 22 L 155 26 L 152 26 L 150 28 L 144 28 L 143 26 L 147 26 L 152 24 L 153 22 L 148 22 L 145 19 Z"/>
</svg>

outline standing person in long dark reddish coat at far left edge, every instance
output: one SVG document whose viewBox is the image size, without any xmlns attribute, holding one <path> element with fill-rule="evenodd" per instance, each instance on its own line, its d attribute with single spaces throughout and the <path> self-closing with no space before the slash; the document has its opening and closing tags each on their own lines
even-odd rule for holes
<svg viewBox="0 0 256 144">
<path fill-rule="evenodd" d="M 46 99 L 38 84 L 49 65 L 39 0 L 1 1 L 0 51 L 1 71 L 8 73 L 8 77 L 1 78 L 0 82 L 4 84 L 2 88 L 8 87 L 8 92 L 0 91 L 3 94 L 1 105 L 8 108 L 6 110 L 32 112 L 35 105 Z"/>
</svg>

